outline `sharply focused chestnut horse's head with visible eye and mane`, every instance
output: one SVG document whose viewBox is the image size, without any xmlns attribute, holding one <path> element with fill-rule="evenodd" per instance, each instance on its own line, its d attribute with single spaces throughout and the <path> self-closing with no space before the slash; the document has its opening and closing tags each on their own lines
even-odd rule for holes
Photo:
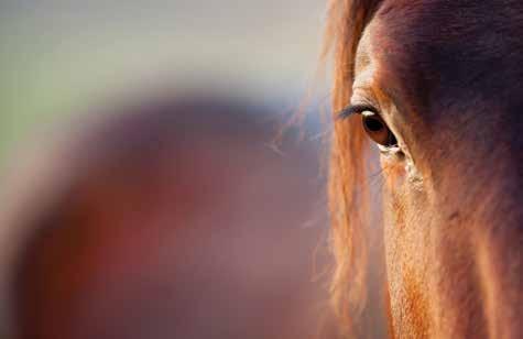
<svg viewBox="0 0 523 339">
<path fill-rule="evenodd" d="M 345 333 L 522 338 L 523 2 L 328 6 Z"/>
</svg>

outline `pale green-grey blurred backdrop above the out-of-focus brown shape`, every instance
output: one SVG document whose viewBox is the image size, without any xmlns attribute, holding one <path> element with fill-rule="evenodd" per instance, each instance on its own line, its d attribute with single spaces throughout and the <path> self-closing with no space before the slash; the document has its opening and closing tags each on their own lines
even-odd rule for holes
<svg viewBox="0 0 523 339">
<path fill-rule="evenodd" d="M 2 0 L 0 163 L 57 116 L 140 88 L 293 107 L 314 83 L 324 7 L 320 0 Z"/>
</svg>

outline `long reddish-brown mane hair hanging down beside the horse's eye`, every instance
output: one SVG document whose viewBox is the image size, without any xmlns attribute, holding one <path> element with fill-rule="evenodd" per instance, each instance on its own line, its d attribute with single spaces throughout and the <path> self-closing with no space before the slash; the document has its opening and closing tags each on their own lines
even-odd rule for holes
<svg viewBox="0 0 523 339">
<path fill-rule="evenodd" d="M 363 30 L 381 0 L 330 0 L 324 59 L 333 58 L 334 135 L 329 173 L 331 244 L 336 269 L 330 286 L 331 303 L 341 319 L 342 332 L 370 335 L 369 144 L 358 119 L 336 119 L 349 102 L 355 77 L 355 56 Z M 356 121 L 355 121 L 356 120 Z M 381 286 L 382 287 L 382 286 Z M 367 333 L 367 335 L 366 335 Z"/>
</svg>

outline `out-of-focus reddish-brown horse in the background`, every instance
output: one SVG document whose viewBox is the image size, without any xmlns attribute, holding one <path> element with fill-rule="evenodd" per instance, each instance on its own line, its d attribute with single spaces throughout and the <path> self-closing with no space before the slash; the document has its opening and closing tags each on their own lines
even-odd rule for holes
<svg viewBox="0 0 523 339">
<path fill-rule="evenodd" d="M 313 143 L 282 156 L 269 108 L 165 91 L 89 109 L 15 165 L 8 338 L 315 338 Z"/>
</svg>

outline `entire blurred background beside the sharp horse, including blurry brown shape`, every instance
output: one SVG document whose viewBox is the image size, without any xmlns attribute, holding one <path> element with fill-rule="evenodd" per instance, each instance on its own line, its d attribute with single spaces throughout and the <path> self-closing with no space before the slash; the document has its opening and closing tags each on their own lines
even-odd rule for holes
<svg viewBox="0 0 523 339">
<path fill-rule="evenodd" d="M 2 338 L 335 337 L 324 12 L 0 2 Z"/>
</svg>

